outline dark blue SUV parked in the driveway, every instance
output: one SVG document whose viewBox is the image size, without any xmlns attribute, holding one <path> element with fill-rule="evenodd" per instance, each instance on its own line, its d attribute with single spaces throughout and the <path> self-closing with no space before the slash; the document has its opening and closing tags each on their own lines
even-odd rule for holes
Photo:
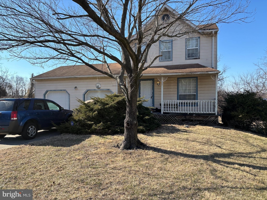
<svg viewBox="0 0 267 200">
<path fill-rule="evenodd" d="M 0 99 L 0 138 L 7 134 L 33 139 L 38 130 L 60 125 L 72 115 L 56 102 L 48 99 Z"/>
</svg>

